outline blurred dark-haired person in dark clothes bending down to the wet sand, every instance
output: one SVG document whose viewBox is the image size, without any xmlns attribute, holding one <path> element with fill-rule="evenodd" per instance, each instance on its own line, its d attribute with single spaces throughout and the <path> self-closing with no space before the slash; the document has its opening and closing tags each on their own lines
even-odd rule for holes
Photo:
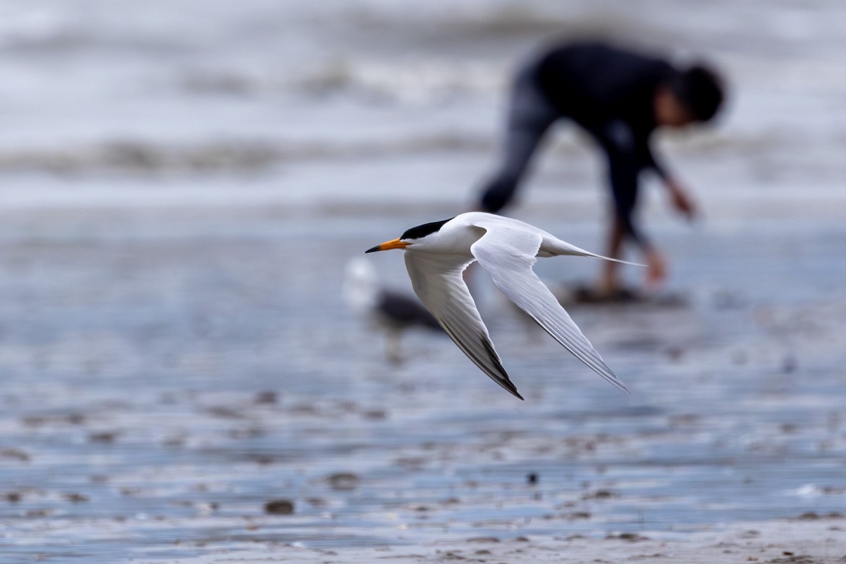
<svg viewBox="0 0 846 564">
<path fill-rule="evenodd" d="M 723 96 L 722 78 L 703 64 L 679 68 L 662 57 L 601 41 L 547 48 L 516 74 L 503 159 L 481 190 L 478 207 L 496 213 L 508 205 L 547 129 L 567 118 L 591 135 L 607 159 L 613 214 L 605 254 L 621 258 L 629 239 L 643 254 L 647 286 L 659 287 L 667 277 L 665 259 L 635 221 L 640 172 L 655 172 L 673 207 L 688 220 L 697 211 L 684 185 L 656 158 L 651 134 L 659 127 L 684 129 L 711 121 Z M 628 295 L 618 263 L 603 263 L 596 295 Z"/>
</svg>

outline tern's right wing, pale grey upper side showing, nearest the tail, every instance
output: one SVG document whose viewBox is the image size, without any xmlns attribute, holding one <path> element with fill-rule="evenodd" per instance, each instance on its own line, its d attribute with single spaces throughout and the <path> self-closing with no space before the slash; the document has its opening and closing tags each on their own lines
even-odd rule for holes
<svg viewBox="0 0 846 564">
<path fill-rule="evenodd" d="M 491 275 L 497 287 L 530 317 L 536 320 L 544 331 L 560 342 L 583 363 L 591 367 L 624 392 L 629 389 L 619 381 L 608 368 L 602 357 L 582 334 L 558 303 L 532 266 L 541 247 L 541 233 L 525 231 L 508 226 L 489 229 L 470 247 L 479 264 Z"/>
</svg>

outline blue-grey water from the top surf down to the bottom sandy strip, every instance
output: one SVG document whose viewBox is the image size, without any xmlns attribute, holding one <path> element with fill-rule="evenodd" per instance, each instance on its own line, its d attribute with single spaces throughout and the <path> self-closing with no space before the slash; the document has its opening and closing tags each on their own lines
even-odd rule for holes
<svg viewBox="0 0 846 564">
<path fill-rule="evenodd" d="M 0 561 L 843 512 L 841 3 L 84 4 L 0 7 Z M 706 211 L 645 210 L 681 304 L 571 309 L 633 393 L 485 286 L 525 402 L 440 336 L 388 364 L 347 260 L 466 209 L 508 69 L 591 30 L 708 53 L 733 89 L 719 128 L 661 140 Z M 598 250 L 581 141 L 514 213 Z M 371 260 L 408 290 L 398 254 Z"/>
</svg>

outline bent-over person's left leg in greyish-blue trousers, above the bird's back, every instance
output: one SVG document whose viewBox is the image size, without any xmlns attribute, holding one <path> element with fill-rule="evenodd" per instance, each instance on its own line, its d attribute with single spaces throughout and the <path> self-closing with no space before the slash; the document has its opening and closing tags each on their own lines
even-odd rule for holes
<svg viewBox="0 0 846 564">
<path fill-rule="evenodd" d="M 500 166 L 481 190 L 482 210 L 496 213 L 512 200 L 537 145 L 558 117 L 526 68 L 514 81 Z"/>
</svg>

